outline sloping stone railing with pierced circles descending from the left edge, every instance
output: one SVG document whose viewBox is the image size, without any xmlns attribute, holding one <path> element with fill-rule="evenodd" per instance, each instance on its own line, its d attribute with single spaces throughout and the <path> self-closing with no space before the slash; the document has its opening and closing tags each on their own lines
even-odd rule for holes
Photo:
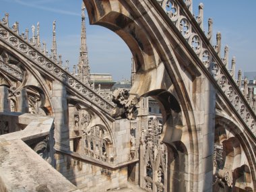
<svg viewBox="0 0 256 192">
<path fill-rule="evenodd" d="M 15 27 L 9 28 L 9 24 L 6 20 L 8 19 L 5 15 L 3 21 L 0 22 L 0 40 L 2 42 L 8 44 L 12 49 L 24 55 L 24 57 L 32 61 L 37 67 L 45 71 L 46 74 L 63 82 L 63 84 L 71 88 L 71 90 L 82 95 L 106 113 L 110 114 L 114 107 L 110 101 L 102 98 L 100 94 L 84 85 L 76 77 L 71 75 L 71 73 L 63 69 L 61 65 L 57 64 L 56 61 L 49 58 L 43 50 L 38 48 L 35 43 L 29 42 L 27 36 L 24 36 L 24 34 L 20 36 L 17 24 Z"/>
</svg>

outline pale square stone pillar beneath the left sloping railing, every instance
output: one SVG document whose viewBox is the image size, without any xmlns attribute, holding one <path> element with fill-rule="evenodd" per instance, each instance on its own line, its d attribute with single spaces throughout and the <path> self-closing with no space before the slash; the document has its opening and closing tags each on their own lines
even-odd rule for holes
<svg viewBox="0 0 256 192">
<path fill-rule="evenodd" d="M 69 151 L 67 91 L 60 82 L 53 82 L 52 101 L 55 117 L 55 148 Z"/>
</svg>

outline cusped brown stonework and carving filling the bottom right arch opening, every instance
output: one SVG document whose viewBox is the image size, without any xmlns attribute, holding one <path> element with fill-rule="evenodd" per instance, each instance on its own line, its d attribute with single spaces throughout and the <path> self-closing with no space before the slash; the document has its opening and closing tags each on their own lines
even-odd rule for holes
<svg viewBox="0 0 256 192">
<path fill-rule="evenodd" d="M 218 121 L 217 121 L 218 122 Z M 253 191 L 247 156 L 226 123 L 217 123 L 214 143 L 214 191 Z"/>
</svg>

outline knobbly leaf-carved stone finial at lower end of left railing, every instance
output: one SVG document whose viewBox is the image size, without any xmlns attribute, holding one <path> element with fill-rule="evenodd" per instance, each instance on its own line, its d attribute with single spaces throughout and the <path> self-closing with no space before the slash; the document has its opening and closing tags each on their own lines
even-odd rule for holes
<svg viewBox="0 0 256 192">
<path fill-rule="evenodd" d="M 111 117 L 121 117 L 129 120 L 136 119 L 138 114 L 136 104 L 139 102 L 137 96 L 130 98 L 128 90 L 119 88 L 113 92 L 112 101 L 117 104 L 117 106 L 113 109 Z"/>
</svg>

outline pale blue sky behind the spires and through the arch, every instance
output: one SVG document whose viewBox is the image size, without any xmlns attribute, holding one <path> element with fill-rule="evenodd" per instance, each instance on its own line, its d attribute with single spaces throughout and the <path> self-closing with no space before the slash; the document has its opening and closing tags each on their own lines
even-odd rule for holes
<svg viewBox="0 0 256 192">
<path fill-rule="evenodd" d="M 255 18 L 256 1 L 247 0 L 193 0 L 193 12 L 198 13 L 199 3 L 204 4 L 204 29 L 207 19 L 214 20 L 216 32 L 222 32 L 222 52 L 228 44 L 230 59 L 236 57 L 236 73 L 256 71 Z M 80 0 L 0 0 L 0 15 L 9 13 L 9 25 L 20 23 L 20 32 L 40 22 L 40 39 L 51 49 L 52 24 L 57 20 L 57 51 L 63 61 L 69 60 L 69 69 L 77 65 L 81 30 Z M 86 20 L 88 55 L 92 73 L 111 73 L 115 81 L 129 79 L 131 52 L 115 33 L 100 26 L 90 26 Z M 224 54 L 224 53 L 222 53 Z M 230 65 L 230 63 L 229 63 Z"/>
</svg>

